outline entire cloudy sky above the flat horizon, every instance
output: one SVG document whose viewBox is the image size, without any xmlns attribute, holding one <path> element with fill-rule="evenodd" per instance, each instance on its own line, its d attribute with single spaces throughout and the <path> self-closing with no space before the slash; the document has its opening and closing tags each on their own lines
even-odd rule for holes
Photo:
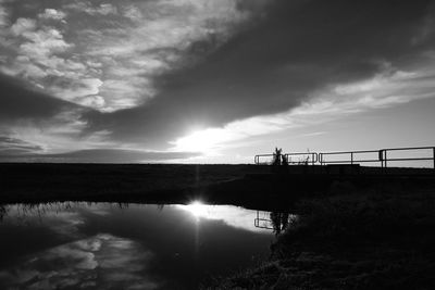
<svg viewBox="0 0 435 290">
<path fill-rule="evenodd" d="M 0 0 L 0 162 L 435 144 L 435 1 Z"/>
</svg>

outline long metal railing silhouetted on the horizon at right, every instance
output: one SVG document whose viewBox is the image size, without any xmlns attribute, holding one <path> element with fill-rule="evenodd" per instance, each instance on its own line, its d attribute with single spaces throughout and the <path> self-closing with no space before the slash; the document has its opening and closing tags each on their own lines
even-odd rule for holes
<svg viewBox="0 0 435 290">
<path fill-rule="evenodd" d="M 391 156 L 394 152 L 418 152 L 425 153 L 422 156 Z M 368 154 L 370 156 L 368 156 Z M 403 148 L 386 148 L 381 150 L 358 150 L 358 151 L 335 151 L 335 152 L 308 152 L 308 153 L 284 153 L 288 164 L 360 164 L 360 163 L 378 163 L 381 167 L 386 168 L 390 162 L 407 161 L 432 161 L 435 169 L 435 147 L 403 147 Z M 365 155 L 365 157 L 364 157 Z M 302 156 L 302 161 L 291 161 L 293 156 Z M 334 159 L 333 156 L 338 156 Z M 260 163 L 263 157 L 274 157 L 274 154 L 259 154 L 254 156 L 256 164 L 271 164 L 271 162 Z M 397 164 L 397 163 L 396 163 Z"/>
</svg>

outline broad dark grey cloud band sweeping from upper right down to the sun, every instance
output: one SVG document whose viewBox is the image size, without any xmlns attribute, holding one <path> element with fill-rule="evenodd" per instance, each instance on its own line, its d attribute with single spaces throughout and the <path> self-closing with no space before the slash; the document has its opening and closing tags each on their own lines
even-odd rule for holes
<svg viewBox="0 0 435 290">
<path fill-rule="evenodd" d="M 431 13 L 426 1 L 394 5 L 278 1 L 265 20 L 235 36 L 206 62 L 162 76 L 160 92 L 150 102 L 94 114 L 90 124 L 111 126 L 114 138 L 152 144 L 174 135 L 285 112 L 325 96 L 332 87 L 395 74 L 422 58 L 433 63 L 424 54 L 433 48 L 433 38 L 412 41 L 426 29 Z M 349 102 L 357 100 L 348 97 Z"/>
</svg>

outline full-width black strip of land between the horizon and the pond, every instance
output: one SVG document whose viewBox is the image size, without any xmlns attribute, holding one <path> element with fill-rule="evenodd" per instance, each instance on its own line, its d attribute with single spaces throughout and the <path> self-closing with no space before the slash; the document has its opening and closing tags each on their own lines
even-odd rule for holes
<svg viewBox="0 0 435 290">
<path fill-rule="evenodd" d="M 323 172 L 322 172 L 323 171 Z M 385 172 L 384 172 L 385 173 Z M 320 166 L 0 163 L 0 204 L 55 201 L 209 203 L 288 210 L 299 199 L 339 190 L 435 186 L 433 169 Z"/>
</svg>

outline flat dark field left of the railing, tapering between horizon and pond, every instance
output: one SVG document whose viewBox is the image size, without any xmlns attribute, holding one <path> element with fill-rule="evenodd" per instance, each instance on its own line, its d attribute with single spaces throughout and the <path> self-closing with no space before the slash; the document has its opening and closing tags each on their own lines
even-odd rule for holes
<svg viewBox="0 0 435 290">
<path fill-rule="evenodd" d="M 200 188 L 268 173 L 254 165 L 0 164 L 0 202 L 184 200 Z"/>
</svg>

